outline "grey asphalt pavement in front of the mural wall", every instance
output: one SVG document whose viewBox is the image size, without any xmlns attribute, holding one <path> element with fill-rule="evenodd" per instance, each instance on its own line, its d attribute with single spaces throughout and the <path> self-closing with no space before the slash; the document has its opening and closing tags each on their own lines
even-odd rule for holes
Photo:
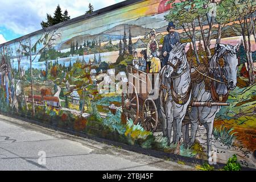
<svg viewBox="0 0 256 182">
<path fill-rule="evenodd" d="M 0 115 L 0 170 L 3 171 L 193 169 Z"/>
</svg>

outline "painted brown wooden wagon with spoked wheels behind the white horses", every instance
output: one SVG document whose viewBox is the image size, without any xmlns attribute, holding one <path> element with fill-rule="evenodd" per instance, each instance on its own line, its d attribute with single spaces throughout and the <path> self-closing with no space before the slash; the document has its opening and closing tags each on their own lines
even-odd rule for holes
<svg viewBox="0 0 256 182">
<path fill-rule="evenodd" d="M 147 131 L 159 129 L 159 113 L 156 100 L 149 98 L 154 89 L 154 80 L 158 73 L 146 73 L 127 65 L 128 82 L 122 93 L 122 110 L 127 120 L 141 123 Z M 161 123 L 162 124 L 162 123 Z"/>
</svg>

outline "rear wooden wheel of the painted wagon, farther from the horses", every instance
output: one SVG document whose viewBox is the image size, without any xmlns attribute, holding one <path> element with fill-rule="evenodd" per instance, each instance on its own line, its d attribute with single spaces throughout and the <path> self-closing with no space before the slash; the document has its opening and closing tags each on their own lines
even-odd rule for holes
<svg viewBox="0 0 256 182">
<path fill-rule="evenodd" d="M 131 82 L 127 83 L 126 93 L 122 93 L 122 110 L 126 120 L 132 119 L 134 125 L 137 125 L 139 117 L 139 98 L 137 90 Z"/>
</svg>

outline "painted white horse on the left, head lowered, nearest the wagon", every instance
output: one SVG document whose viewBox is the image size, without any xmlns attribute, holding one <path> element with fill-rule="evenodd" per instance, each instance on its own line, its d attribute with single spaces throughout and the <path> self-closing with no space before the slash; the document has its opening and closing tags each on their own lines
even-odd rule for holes
<svg viewBox="0 0 256 182">
<path fill-rule="evenodd" d="M 167 65 L 159 73 L 163 136 L 168 137 L 168 144 L 171 143 L 172 129 L 172 142 L 180 142 L 182 121 L 191 101 L 191 73 L 185 46 L 187 43 L 176 43 L 172 47 Z"/>
</svg>

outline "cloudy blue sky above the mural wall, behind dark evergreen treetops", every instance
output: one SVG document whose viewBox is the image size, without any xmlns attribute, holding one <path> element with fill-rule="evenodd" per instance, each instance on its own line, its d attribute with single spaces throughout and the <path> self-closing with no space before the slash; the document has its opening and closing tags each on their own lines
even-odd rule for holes
<svg viewBox="0 0 256 182">
<path fill-rule="evenodd" d="M 0 0 L 0 44 L 42 29 L 46 14 L 53 15 L 56 6 L 68 10 L 71 18 L 85 14 L 89 2 L 94 11 L 124 0 Z"/>
</svg>

